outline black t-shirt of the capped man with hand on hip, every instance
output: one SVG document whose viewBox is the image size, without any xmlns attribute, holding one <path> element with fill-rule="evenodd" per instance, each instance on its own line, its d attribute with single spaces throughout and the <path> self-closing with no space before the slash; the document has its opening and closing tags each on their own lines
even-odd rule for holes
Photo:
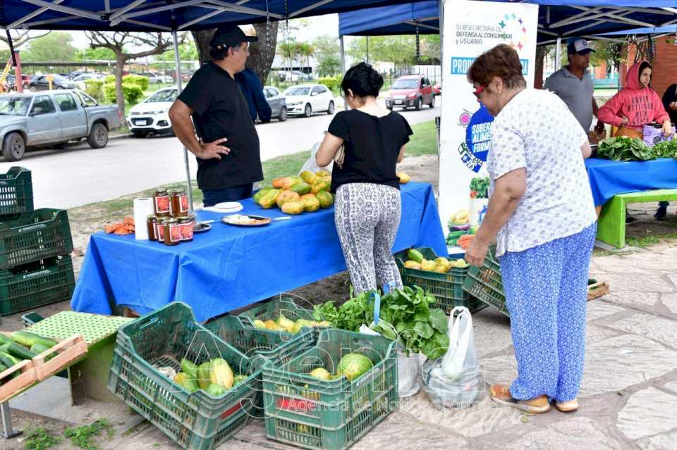
<svg viewBox="0 0 677 450">
<path fill-rule="evenodd" d="M 263 180 L 259 136 L 247 101 L 233 77 L 214 63 L 195 72 L 178 99 L 195 111 L 193 123 L 202 142 L 227 137 L 231 152 L 221 159 L 197 158 L 197 186 L 224 189 Z"/>
</svg>

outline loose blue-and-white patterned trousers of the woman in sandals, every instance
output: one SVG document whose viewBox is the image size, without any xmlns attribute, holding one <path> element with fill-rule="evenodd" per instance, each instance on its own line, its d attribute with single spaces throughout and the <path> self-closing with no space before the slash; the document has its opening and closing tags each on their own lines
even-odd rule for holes
<svg viewBox="0 0 677 450">
<path fill-rule="evenodd" d="M 506 252 L 501 274 L 515 346 L 520 400 L 576 398 L 583 377 L 587 275 L 594 223 L 575 235 Z"/>
</svg>

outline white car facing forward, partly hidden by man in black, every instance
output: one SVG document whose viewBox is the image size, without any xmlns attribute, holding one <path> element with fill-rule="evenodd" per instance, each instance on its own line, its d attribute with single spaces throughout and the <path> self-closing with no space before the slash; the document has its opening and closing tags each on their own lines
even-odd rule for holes
<svg viewBox="0 0 677 450">
<path fill-rule="evenodd" d="M 172 133 L 169 108 L 177 96 L 176 87 L 165 87 L 133 106 L 127 118 L 129 130 L 135 137 L 146 137 L 150 133 Z"/>
</svg>

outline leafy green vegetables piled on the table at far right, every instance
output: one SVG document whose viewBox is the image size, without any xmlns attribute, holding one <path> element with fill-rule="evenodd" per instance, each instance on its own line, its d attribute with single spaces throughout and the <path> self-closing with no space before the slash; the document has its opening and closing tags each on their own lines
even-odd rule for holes
<svg viewBox="0 0 677 450">
<path fill-rule="evenodd" d="M 611 137 L 599 143 L 597 156 L 612 161 L 649 161 L 656 158 L 677 158 L 677 139 L 659 142 L 649 147 L 642 139 L 626 136 Z"/>
</svg>

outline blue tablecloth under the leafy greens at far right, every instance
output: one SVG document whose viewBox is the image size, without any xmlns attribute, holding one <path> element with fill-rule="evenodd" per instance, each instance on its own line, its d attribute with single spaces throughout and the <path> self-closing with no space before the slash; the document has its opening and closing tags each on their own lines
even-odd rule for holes
<svg viewBox="0 0 677 450">
<path fill-rule="evenodd" d="M 616 194 L 677 189 L 677 161 L 660 158 L 653 161 L 585 160 L 595 206 L 601 206 Z"/>
</svg>

